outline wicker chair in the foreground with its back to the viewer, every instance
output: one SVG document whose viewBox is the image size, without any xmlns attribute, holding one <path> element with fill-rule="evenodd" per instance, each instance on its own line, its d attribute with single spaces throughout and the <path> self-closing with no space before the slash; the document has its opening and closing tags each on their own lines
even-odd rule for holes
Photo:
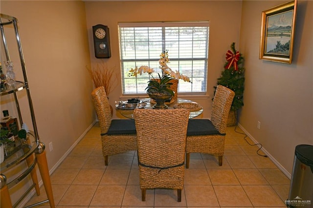
<svg viewBox="0 0 313 208">
<path fill-rule="evenodd" d="M 134 110 L 142 201 L 147 188 L 177 189 L 181 201 L 188 118 L 188 109 Z"/>
</svg>

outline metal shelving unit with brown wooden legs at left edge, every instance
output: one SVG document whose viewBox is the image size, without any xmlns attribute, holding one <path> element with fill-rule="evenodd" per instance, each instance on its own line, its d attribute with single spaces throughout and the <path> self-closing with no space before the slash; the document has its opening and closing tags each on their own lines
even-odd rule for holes
<svg viewBox="0 0 313 208">
<path fill-rule="evenodd" d="M 9 55 L 9 50 L 8 50 L 4 30 L 7 30 L 7 29 L 12 30 L 12 27 L 6 27 L 6 25 L 13 25 L 15 38 L 16 38 L 16 42 L 17 42 L 17 46 L 19 50 L 24 80 L 22 82 L 16 81 L 15 85 L 13 86 L 7 86 L 6 89 L 1 90 L 0 95 L 1 97 L 6 96 L 8 94 L 12 94 L 14 96 L 14 101 L 15 101 L 15 105 L 17 108 L 17 112 L 18 112 L 19 123 L 20 123 L 20 126 L 22 126 L 23 124 L 22 114 L 21 114 L 17 92 L 20 90 L 26 90 L 28 105 L 29 105 L 29 110 L 30 110 L 31 120 L 32 120 L 32 125 L 33 125 L 34 130 L 28 134 L 29 138 L 27 140 L 27 143 L 17 146 L 15 149 L 15 153 L 11 155 L 10 157 L 6 158 L 4 162 L 2 162 L 0 165 L 0 207 L 1 208 L 16 207 L 21 202 L 22 198 L 24 198 L 27 195 L 27 193 L 30 190 L 32 190 L 33 187 L 36 189 L 37 195 L 40 194 L 37 173 L 35 169 L 35 166 L 38 165 L 48 199 L 43 202 L 39 202 L 34 205 L 31 205 L 29 207 L 34 207 L 34 206 L 43 204 L 45 202 L 49 202 L 50 207 L 54 208 L 55 205 L 54 205 L 54 200 L 53 200 L 49 169 L 47 166 L 46 155 L 45 155 L 45 144 L 40 141 L 39 136 L 38 136 L 35 114 L 34 114 L 33 104 L 31 100 L 30 89 L 28 86 L 25 62 L 24 62 L 24 57 L 23 57 L 23 52 L 22 52 L 22 44 L 21 44 L 21 39 L 20 39 L 19 31 L 18 31 L 18 20 L 15 17 L 5 15 L 5 14 L 0 14 L 0 31 L 1 31 L 2 44 L 4 47 L 4 51 L 5 51 L 6 61 L 10 61 L 10 55 Z M 10 178 L 10 182 L 7 183 L 5 172 L 19 165 L 23 161 L 26 161 L 28 168 L 24 170 L 24 172 L 20 176 L 16 177 L 15 179 Z M 18 184 L 20 181 L 22 181 L 23 178 L 25 178 L 29 174 L 32 177 L 33 185 L 22 195 L 22 197 L 18 200 L 18 202 L 12 206 L 11 198 L 9 194 L 9 188 Z"/>
</svg>

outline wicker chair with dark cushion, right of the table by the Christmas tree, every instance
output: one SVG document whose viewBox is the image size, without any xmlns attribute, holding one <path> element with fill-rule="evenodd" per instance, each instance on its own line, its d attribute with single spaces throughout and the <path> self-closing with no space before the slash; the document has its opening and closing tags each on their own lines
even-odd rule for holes
<svg viewBox="0 0 313 208">
<path fill-rule="evenodd" d="M 223 165 L 226 123 L 235 93 L 218 85 L 212 104 L 211 119 L 191 119 L 188 123 L 186 142 L 186 168 L 191 152 L 208 153 L 219 157 Z"/>
</svg>

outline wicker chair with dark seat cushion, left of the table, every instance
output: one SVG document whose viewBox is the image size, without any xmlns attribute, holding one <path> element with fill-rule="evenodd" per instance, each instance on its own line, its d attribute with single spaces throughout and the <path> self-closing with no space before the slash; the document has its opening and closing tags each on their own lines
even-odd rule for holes
<svg viewBox="0 0 313 208">
<path fill-rule="evenodd" d="M 110 104 L 103 86 L 94 89 L 91 97 L 101 128 L 102 153 L 105 165 L 108 166 L 109 155 L 137 150 L 134 120 L 112 120 Z"/>
</svg>

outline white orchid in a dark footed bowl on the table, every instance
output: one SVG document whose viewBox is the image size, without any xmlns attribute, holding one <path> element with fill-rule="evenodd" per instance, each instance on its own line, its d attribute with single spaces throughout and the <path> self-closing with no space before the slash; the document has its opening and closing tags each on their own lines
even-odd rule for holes
<svg viewBox="0 0 313 208">
<path fill-rule="evenodd" d="M 190 79 L 180 74 L 179 71 L 173 71 L 167 63 L 169 63 L 168 51 L 164 51 L 160 54 L 159 59 L 159 68 L 162 71 L 162 76 L 157 73 L 159 79 L 155 79 L 153 76 L 154 69 L 149 66 L 140 66 L 132 68 L 129 72 L 129 76 L 137 77 L 137 75 L 141 75 L 142 73 L 148 73 L 152 79 L 148 81 L 148 86 L 145 88 L 150 98 L 156 101 L 156 104 L 153 106 L 155 109 L 166 109 L 168 106 L 165 104 L 165 101 L 170 100 L 172 96 L 174 96 L 174 91 L 171 89 L 171 83 L 174 79 L 181 79 L 185 82 L 191 83 Z"/>
</svg>

